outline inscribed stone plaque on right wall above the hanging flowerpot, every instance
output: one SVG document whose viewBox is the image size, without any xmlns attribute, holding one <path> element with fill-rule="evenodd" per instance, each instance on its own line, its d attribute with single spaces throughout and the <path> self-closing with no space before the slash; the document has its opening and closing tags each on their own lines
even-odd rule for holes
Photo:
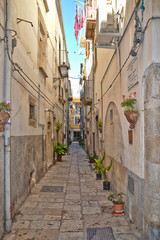
<svg viewBox="0 0 160 240">
<path fill-rule="evenodd" d="M 137 57 L 134 57 L 127 67 L 128 90 L 138 83 Z"/>
</svg>

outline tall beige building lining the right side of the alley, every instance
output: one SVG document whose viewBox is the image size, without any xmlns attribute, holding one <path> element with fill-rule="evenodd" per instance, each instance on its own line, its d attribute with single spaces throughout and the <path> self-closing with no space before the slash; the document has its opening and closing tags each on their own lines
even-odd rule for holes
<svg viewBox="0 0 160 240">
<path fill-rule="evenodd" d="M 84 8 L 84 130 L 89 150 L 99 156 L 105 151 L 106 165 L 113 161 L 112 189 L 126 194 L 127 213 L 144 239 L 156 240 L 160 238 L 160 43 L 156 40 L 160 1 L 86 0 Z M 138 109 L 134 127 L 121 106 L 122 95 L 129 98 L 133 93 Z"/>
</svg>

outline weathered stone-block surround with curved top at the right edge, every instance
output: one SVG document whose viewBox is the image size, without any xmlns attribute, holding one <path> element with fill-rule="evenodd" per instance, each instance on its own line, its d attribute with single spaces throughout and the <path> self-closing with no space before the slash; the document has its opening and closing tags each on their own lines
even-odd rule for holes
<svg viewBox="0 0 160 240">
<path fill-rule="evenodd" d="M 145 191 L 144 228 L 146 240 L 160 239 L 160 63 L 144 74 Z"/>
</svg>

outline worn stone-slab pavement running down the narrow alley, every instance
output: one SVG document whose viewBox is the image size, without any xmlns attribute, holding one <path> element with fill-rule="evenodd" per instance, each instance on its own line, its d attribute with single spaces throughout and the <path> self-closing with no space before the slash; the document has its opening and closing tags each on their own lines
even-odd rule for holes
<svg viewBox="0 0 160 240">
<path fill-rule="evenodd" d="M 112 216 L 109 191 L 102 190 L 84 150 L 72 143 L 32 189 L 4 240 L 112 240 L 87 239 L 87 228 L 112 227 L 115 240 L 141 240 L 127 216 Z"/>
</svg>

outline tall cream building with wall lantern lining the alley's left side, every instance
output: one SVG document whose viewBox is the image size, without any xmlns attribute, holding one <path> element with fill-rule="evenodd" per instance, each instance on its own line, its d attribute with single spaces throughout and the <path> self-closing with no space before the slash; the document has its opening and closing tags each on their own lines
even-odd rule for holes
<svg viewBox="0 0 160 240">
<path fill-rule="evenodd" d="M 69 61 L 61 2 L 2 0 L 0 52 L 0 101 L 10 101 L 12 109 L 0 133 L 1 236 L 54 163 L 57 122 L 59 141 L 67 142 Z"/>
</svg>

